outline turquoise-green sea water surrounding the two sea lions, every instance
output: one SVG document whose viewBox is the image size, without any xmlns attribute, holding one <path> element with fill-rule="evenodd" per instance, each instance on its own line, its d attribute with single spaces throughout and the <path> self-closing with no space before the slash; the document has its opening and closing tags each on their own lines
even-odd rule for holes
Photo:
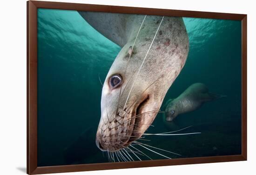
<svg viewBox="0 0 256 175">
<path fill-rule="evenodd" d="M 241 22 L 183 18 L 189 56 L 163 104 L 195 82 L 227 97 L 183 114 L 171 125 L 158 114 L 148 133 L 193 125 L 187 136 L 148 136 L 152 146 L 182 156 L 241 154 Z M 76 11 L 38 10 L 38 166 L 108 162 L 95 145 L 101 83 L 121 48 Z M 164 157 L 143 150 L 153 159 Z M 146 158 L 143 158 L 146 160 Z"/>
</svg>

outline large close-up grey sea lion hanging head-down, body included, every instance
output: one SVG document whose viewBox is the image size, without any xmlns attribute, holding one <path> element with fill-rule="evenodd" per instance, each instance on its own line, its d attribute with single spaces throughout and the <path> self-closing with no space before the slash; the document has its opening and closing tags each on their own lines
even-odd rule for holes
<svg viewBox="0 0 256 175">
<path fill-rule="evenodd" d="M 100 150 L 115 152 L 140 138 L 155 119 L 186 62 L 188 34 L 180 17 L 79 13 L 122 47 L 102 87 L 96 134 Z"/>
</svg>

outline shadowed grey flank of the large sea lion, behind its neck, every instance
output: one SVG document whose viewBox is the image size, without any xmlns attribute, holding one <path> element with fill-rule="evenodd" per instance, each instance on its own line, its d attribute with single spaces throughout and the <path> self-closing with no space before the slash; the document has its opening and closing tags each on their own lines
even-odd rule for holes
<svg viewBox="0 0 256 175">
<path fill-rule="evenodd" d="M 78 11 L 94 29 L 103 36 L 123 47 L 127 43 L 126 24 L 133 14 Z"/>
</svg>

